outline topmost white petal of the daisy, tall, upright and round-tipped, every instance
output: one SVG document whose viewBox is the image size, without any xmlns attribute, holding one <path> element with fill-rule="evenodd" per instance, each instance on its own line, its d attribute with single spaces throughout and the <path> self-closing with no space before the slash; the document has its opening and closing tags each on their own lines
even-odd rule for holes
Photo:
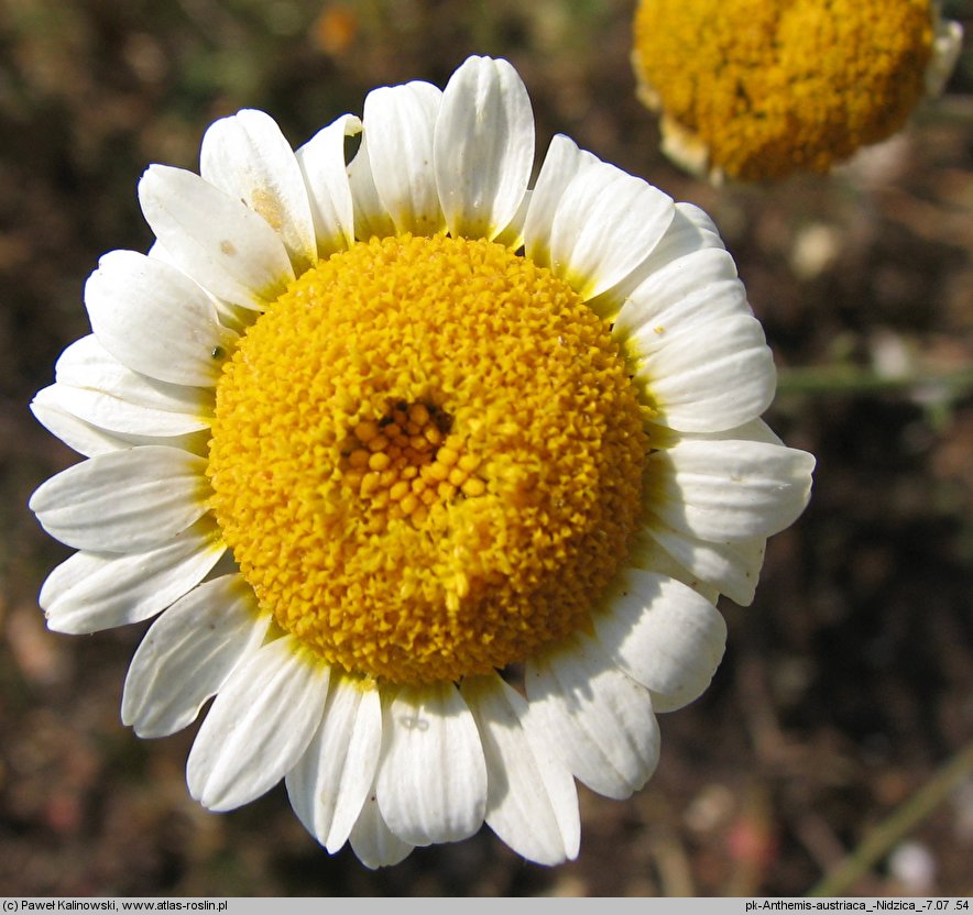
<svg viewBox="0 0 973 915">
<path fill-rule="evenodd" d="M 523 200 L 534 164 L 534 113 L 506 60 L 470 57 L 442 93 L 436 181 L 453 235 L 494 239 Z"/>
</svg>

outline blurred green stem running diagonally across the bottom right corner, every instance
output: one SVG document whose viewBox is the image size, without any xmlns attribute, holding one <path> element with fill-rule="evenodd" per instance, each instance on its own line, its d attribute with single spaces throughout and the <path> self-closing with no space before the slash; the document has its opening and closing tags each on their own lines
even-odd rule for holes
<svg viewBox="0 0 973 915">
<path fill-rule="evenodd" d="M 973 772 L 973 740 L 919 791 L 872 829 L 861 845 L 811 889 L 809 896 L 840 896 L 928 817 Z"/>
</svg>

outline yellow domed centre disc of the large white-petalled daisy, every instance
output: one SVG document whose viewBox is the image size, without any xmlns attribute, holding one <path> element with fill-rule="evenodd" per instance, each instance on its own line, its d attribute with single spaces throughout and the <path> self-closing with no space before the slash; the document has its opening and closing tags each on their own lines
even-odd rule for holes
<svg viewBox="0 0 973 915">
<path fill-rule="evenodd" d="M 503 669 L 586 627 L 647 444 L 609 329 L 482 240 L 319 262 L 217 386 L 211 507 L 263 609 L 352 673 Z"/>
</svg>

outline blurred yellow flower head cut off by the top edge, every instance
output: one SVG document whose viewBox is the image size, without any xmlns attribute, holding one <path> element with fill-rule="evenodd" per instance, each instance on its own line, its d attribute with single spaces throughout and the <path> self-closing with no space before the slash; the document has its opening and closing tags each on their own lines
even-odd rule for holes
<svg viewBox="0 0 973 915">
<path fill-rule="evenodd" d="M 758 180 L 827 172 L 901 129 L 961 36 L 930 0 L 642 0 L 632 59 L 667 155 Z"/>
</svg>

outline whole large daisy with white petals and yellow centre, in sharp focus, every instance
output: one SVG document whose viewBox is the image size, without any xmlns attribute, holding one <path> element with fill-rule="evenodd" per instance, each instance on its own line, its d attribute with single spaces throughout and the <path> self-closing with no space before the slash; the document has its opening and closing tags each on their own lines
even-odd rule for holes
<svg viewBox="0 0 973 915">
<path fill-rule="evenodd" d="M 346 162 L 348 137 L 360 146 Z M 369 867 L 485 822 L 578 853 L 700 695 L 813 459 L 710 220 L 555 137 L 505 60 L 381 88 L 293 152 L 241 111 L 142 178 L 34 414 L 87 460 L 34 494 L 78 552 L 48 626 L 158 618 L 122 718 L 190 724 L 194 797 L 285 780 Z M 225 558 L 223 562 L 220 562 Z M 227 561 L 229 558 L 232 562 Z"/>
</svg>

